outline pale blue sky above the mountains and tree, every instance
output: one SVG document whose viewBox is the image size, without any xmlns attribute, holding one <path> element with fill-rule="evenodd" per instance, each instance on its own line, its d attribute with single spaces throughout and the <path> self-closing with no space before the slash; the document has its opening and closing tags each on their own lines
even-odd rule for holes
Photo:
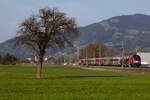
<svg viewBox="0 0 150 100">
<path fill-rule="evenodd" d="M 18 25 L 43 7 L 58 8 L 78 26 L 130 14 L 150 15 L 150 0 L 0 0 L 0 42 L 16 36 Z"/>
</svg>

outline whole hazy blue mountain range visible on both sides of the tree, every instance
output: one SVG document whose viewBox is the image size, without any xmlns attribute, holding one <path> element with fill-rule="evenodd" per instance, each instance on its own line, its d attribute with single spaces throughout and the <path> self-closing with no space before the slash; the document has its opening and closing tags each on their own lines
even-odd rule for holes
<svg viewBox="0 0 150 100">
<path fill-rule="evenodd" d="M 150 16 L 143 14 L 123 15 L 103 20 L 85 27 L 80 27 L 80 35 L 75 42 L 85 46 L 94 42 L 102 42 L 116 50 L 120 49 L 124 41 L 128 48 L 150 47 Z M 14 39 L 0 44 L 0 53 L 12 53 L 19 57 L 33 57 L 33 53 L 26 46 L 12 48 Z M 55 54 L 57 50 L 47 50 L 46 55 Z"/>
</svg>

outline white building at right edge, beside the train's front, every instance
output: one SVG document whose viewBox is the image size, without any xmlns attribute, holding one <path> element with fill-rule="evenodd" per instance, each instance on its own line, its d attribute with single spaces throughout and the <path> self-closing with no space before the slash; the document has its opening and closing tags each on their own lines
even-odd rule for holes
<svg viewBox="0 0 150 100">
<path fill-rule="evenodd" d="M 138 52 L 137 55 L 141 57 L 142 66 L 150 67 L 150 53 Z"/>
</svg>

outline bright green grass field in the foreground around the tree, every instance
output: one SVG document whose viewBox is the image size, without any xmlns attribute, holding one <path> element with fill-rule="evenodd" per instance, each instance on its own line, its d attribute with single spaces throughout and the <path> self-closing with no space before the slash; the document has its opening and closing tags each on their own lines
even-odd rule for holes
<svg viewBox="0 0 150 100">
<path fill-rule="evenodd" d="M 150 100 L 150 76 L 76 67 L 0 66 L 0 100 Z"/>
</svg>

